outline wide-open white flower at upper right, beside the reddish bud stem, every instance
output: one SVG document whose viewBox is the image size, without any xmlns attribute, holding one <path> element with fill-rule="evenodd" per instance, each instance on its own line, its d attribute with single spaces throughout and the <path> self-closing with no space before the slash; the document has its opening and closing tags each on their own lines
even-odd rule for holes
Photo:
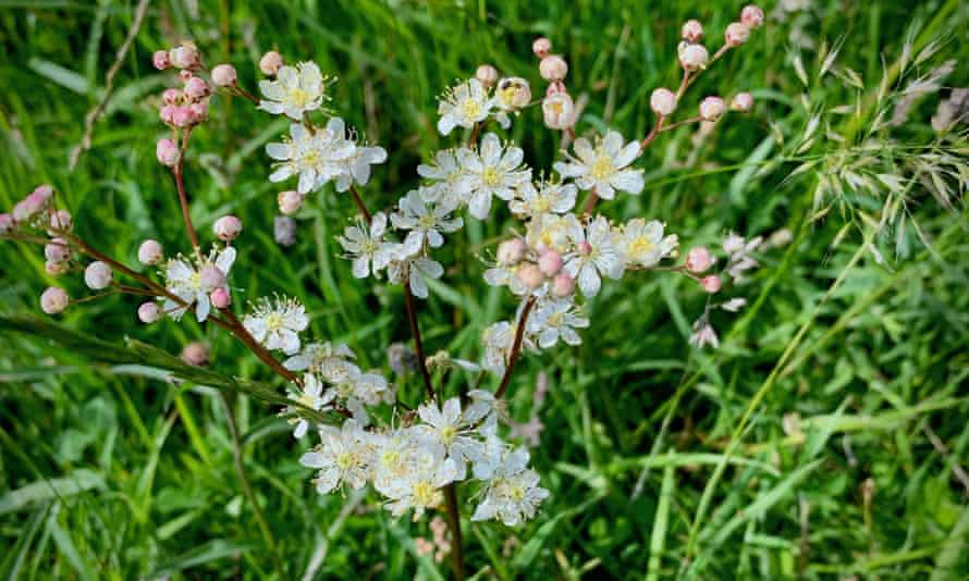
<svg viewBox="0 0 969 581">
<path fill-rule="evenodd" d="M 582 189 L 596 189 L 605 200 L 615 197 L 615 190 L 639 194 L 642 191 L 642 170 L 627 168 L 639 157 L 639 141 L 623 145 L 623 136 L 610 131 L 605 138 L 592 148 L 589 140 L 581 137 L 575 141 L 578 159 L 567 156 L 567 162 L 555 162 L 555 171 L 565 177 L 574 177 Z"/>
</svg>

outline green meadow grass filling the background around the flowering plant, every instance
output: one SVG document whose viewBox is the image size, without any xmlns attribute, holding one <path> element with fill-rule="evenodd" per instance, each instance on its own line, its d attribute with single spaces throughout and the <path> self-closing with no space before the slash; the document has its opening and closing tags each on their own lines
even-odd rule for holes
<svg viewBox="0 0 969 581">
<path fill-rule="evenodd" d="M 338 76 L 331 106 L 389 152 L 361 188 L 381 207 L 447 146 L 437 98 L 480 63 L 537 78 L 531 41 L 548 36 L 568 61 L 571 94 L 588 100 L 576 132 L 642 136 L 650 92 L 679 79 L 680 24 L 722 30 L 743 5 L 150 2 L 71 166 L 135 4 L 0 1 L 0 207 L 53 184 L 78 235 L 130 264 L 145 238 L 184 244 L 170 172 L 155 158 L 165 133 L 157 96 L 170 83 L 151 66 L 159 48 L 192 38 L 249 87 L 253 63 L 272 48 Z M 523 359 L 508 410 L 543 424 L 531 462 L 551 495 L 523 527 L 465 520 L 469 577 L 969 577 L 969 109 L 933 127 L 940 102 L 969 82 L 969 7 L 787 0 L 764 10 L 766 25 L 684 103 L 692 111 L 702 96 L 746 89 L 753 112 L 709 135 L 661 134 L 637 162 L 645 191 L 608 207 L 675 226 L 684 248 L 729 231 L 775 234 L 743 287 L 748 306 L 731 320 L 714 314 L 721 346 L 698 349 L 687 338 L 704 293 L 643 273 L 603 286 L 580 346 Z M 352 202 L 332 188 L 312 195 L 296 243 L 275 244 L 279 188 L 263 147 L 287 122 L 216 99 L 193 134 L 186 185 L 200 232 L 226 213 L 245 224 L 233 285 L 252 296 L 236 300 L 298 296 L 315 336 L 387 368 L 387 347 L 409 341 L 404 298 L 353 279 L 336 258 Z M 507 137 L 529 165 L 551 166 L 559 136 L 540 111 Z M 467 221 L 444 252 L 449 270 L 419 314 L 429 353 L 475 358 L 484 327 L 514 309 L 508 294 L 482 290 L 486 267 L 471 258 L 507 232 L 506 214 L 494 215 Z M 39 312 L 54 279 L 38 249 L 3 240 L 0 264 L 0 574 L 451 574 L 418 555 L 427 519 L 394 519 L 372 492 L 312 491 L 297 461 L 305 446 L 267 403 L 282 386 L 231 337 L 191 317 L 143 325 L 132 297 L 52 319 Z M 210 346 L 210 369 L 175 358 L 193 341 Z M 450 375 L 449 393 L 463 379 Z M 417 374 L 400 388 L 416 399 Z"/>
</svg>

